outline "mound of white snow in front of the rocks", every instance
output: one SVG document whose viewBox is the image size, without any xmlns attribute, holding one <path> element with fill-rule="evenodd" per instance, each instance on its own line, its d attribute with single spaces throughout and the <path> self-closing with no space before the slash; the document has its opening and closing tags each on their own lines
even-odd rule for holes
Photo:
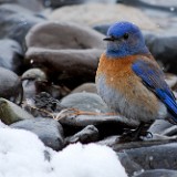
<svg viewBox="0 0 177 177">
<path fill-rule="evenodd" d="M 77 143 L 54 152 L 31 132 L 0 126 L 0 177 L 117 176 L 127 177 L 110 147 Z"/>
</svg>

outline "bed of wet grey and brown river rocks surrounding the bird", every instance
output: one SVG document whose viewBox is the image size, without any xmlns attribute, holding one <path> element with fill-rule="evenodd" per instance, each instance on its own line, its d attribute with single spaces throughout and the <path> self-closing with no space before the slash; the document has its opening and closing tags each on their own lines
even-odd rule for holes
<svg viewBox="0 0 177 177">
<path fill-rule="evenodd" d="M 0 118 L 10 128 L 34 133 L 56 152 L 77 142 L 107 145 L 128 176 L 175 177 L 177 126 L 156 121 L 149 127 L 153 136 L 119 142 L 137 123 L 106 115 L 111 110 L 94 80 L 107 28 L 128 20 L 143 30 L 177 96 L 177 2 L 100 2 L 0 1 Z"/>
</svg>

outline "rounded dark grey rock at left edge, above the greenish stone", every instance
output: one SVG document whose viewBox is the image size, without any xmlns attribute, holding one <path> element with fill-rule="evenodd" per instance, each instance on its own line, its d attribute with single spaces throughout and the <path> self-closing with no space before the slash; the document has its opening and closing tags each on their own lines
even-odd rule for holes
<svg viewBox="0 0 177 177">
<path fill-rule="evenodd" d="M 21 80 L 15 73 L 4 67 L 0 67 L 0 97 L 18 104 L 20 104 L 23 98 Z"/>
</svg>

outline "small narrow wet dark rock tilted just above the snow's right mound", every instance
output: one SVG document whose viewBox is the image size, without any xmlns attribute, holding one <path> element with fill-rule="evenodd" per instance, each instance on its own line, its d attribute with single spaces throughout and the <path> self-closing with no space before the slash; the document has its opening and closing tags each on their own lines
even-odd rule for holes
<svg viewBox="0 0 177 177">
<path fill-rule="evenodd" d="M 91 143 L 96 142 L 98 139 L 98 131 L 95 126 L 88 125 L 81 132 L 76 133 L 75 135 L 67 137 L 65 139 L 66 144 L 73 144 L 73 143 Z"/>
</svg>

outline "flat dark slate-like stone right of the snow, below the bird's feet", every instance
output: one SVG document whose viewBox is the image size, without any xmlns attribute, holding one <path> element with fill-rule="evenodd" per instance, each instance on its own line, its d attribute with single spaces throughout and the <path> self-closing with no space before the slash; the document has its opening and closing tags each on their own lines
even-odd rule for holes
<svg viewBox="0 0 177 177">
<path fill-rule="evenodd" d="M 118 156 L 127 155 L 133 162 L 138 164 L 143 169 L 177 169 L 177 143 L 165 145 L 154 145 L 149 147 L 139 147 L 124 149 L 117 153 Z M 129 168 L 127 165 L 125 168 Z"/>
</svg>

